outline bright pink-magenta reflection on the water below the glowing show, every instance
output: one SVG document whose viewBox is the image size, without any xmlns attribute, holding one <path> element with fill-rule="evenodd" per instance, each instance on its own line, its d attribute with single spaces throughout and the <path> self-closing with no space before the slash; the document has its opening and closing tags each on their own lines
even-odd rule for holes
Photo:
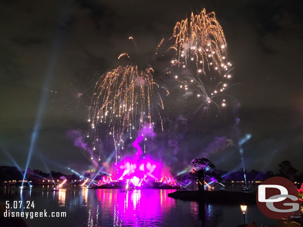
<svg viewBox="0 0 303 227">
<path fill-rule="evenodd" d="M 175 207 L 175 200 L 168 197 L 174 189 L 145 189 L 128 192 L 119 190 L 97 189 L 97 200 L 101 210 L 109 210 L 115 225 L 137 226 L 138 220 L 162 219 Z M 160 199 L 159 199 L 160 198 Z"/>
</svg>

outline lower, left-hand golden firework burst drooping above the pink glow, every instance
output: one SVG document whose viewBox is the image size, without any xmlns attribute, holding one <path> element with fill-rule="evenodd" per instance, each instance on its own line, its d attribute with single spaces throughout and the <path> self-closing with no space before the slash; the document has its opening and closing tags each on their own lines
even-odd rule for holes
<svg viewBox="0 0 303 227">
<path fill-rule="evenodd" d="M 131 59 L 127 53 L 121 54 L 118 59 L 122 57 Z M 108 135 L 114 139 L 117 163 L 127 137 L 132 139 L 136 130 L 146 123 L 153 125 L 154 112 L 161 120 L 159 112 L 155 110 L 164 107 L 158 93 L 159 86 L 154 82 L 152 74 L 152 67 L 139 69 L 138 65 L 131 62 L 111 69 L 99 78 L 92 95 L 88 118 L 94 131 L 93 151 L 98 140 L 98 124 L 108 125 Z"/>
</svg>

